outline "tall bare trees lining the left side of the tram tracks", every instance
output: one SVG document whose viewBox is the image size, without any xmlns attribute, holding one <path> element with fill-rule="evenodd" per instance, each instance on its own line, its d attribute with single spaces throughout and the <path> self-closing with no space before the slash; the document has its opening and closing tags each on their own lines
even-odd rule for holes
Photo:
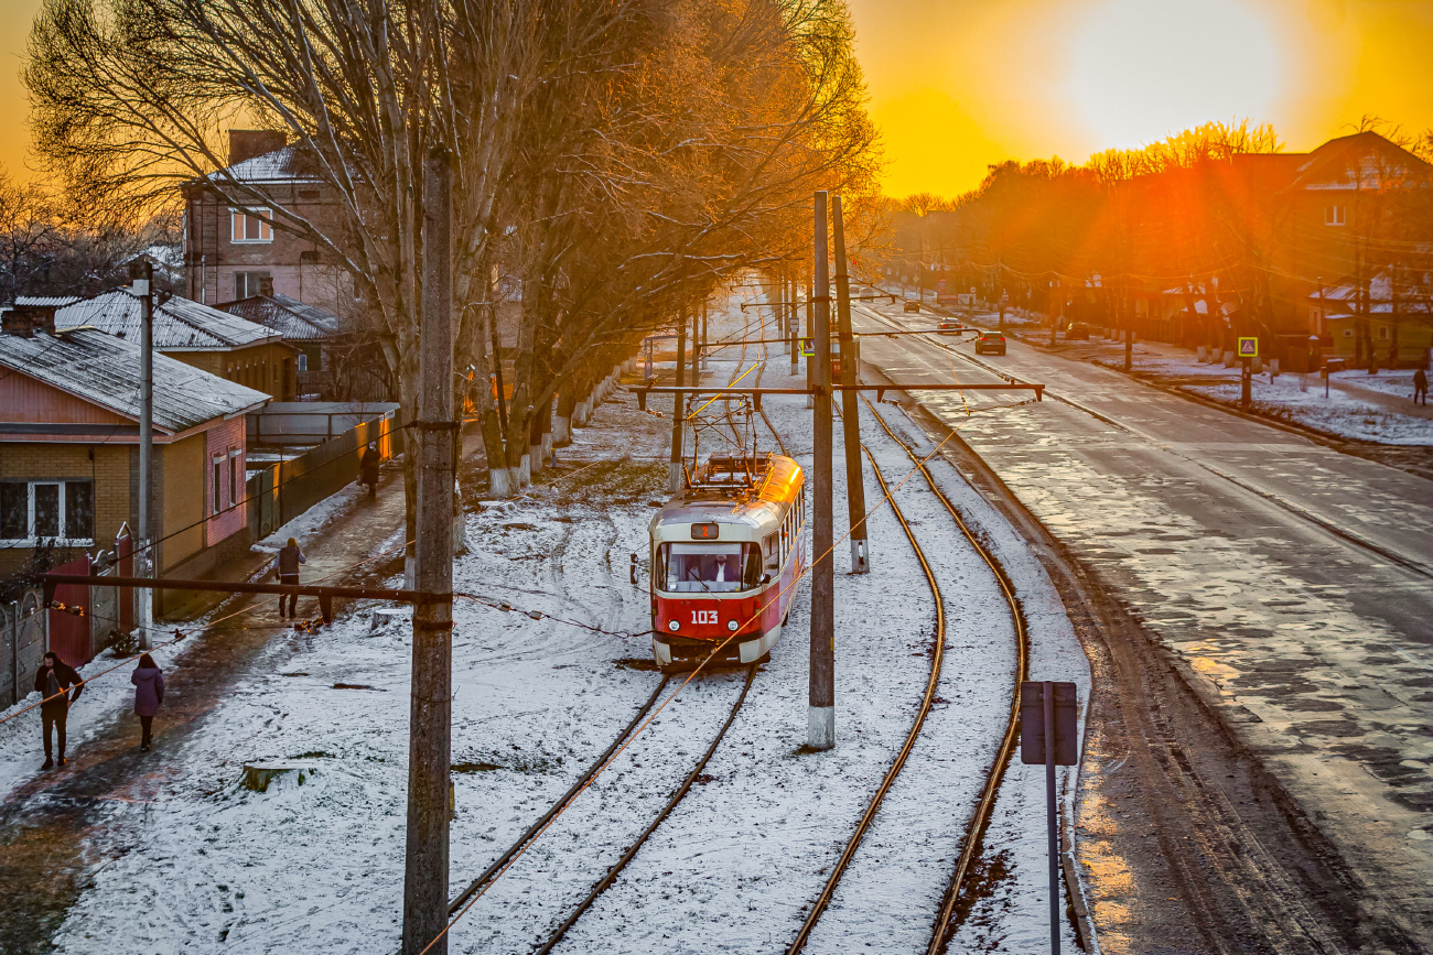
<svg viewBox="0 0 1433 955">
<path fill-rule="evenodd" d="M 738 272 L 797 268 L 811 192 L 873 193 L 878 162 L 841 0 L 46 0 L 24 82 L 77 202 L 152 210 L 211 176 L 314 242 L 408 409 L 423 159 L 450 150 L 453 346 L 477 382 L 520 298 L 512 401 L 474 389 L 499 494 L 555 395 Z M 322 216 L 224 172 L 236 120 L 287 133 Z"/>
</svg>

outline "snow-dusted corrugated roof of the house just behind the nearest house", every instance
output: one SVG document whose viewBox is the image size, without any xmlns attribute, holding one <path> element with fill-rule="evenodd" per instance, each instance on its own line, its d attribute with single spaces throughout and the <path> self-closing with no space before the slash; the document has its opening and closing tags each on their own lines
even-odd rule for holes
<svg viewBox="0 0 1433 955">
<path fill-rule="evenodd" d="M 54 326 L 92 325 L 138 344 L 139 318 L 139 299 L 128 288 L 122 288 L 56 311 Z M 262 325 L 178 295 L 155 309 L 155 348 L 159 351 L 225 351 L 278 338 L 277 332 Z"/>
</svg>

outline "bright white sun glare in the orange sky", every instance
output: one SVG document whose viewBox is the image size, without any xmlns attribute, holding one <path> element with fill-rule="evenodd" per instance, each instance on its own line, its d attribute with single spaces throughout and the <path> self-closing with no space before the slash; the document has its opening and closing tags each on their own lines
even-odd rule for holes
<svg viewBox="0 0 1433 955">
<path fill-rule="evenodd" d="M 1235 0 L 1112 0 L 1070 37 L 1070 96 L 1101 149 L 1209 120 L 1267 119 L 1280 49 Z"/>
</svg>

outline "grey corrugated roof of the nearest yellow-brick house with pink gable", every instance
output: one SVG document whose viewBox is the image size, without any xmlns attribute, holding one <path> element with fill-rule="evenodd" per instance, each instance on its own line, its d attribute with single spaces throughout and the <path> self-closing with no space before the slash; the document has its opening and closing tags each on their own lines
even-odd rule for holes
<svg viewBox="0 0 1433 955">
<path fill-rule="evenodd" d="M 0 365 L 139 420 L 139 346 L 93 328 L 33 338 L 0 335 Z M 171 434 L 248 411 L 269 399 L 166 355 L 155 355 L 156 428 Z"/>
</svg>

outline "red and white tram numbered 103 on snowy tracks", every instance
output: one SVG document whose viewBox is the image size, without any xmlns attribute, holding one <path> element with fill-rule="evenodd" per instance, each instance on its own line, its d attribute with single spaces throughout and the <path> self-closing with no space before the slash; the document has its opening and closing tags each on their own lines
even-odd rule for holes
<svg viewBox="0 0 1433 955">
<path fill-rule="evenodd" d="M 764 659 L 805 566 L 805 474 L 787 457 L 714 457 L 652 518 L 652 654 L 668 669 Z M 735 636 L 734 636 L 735 634 Z"/>
</svg>

